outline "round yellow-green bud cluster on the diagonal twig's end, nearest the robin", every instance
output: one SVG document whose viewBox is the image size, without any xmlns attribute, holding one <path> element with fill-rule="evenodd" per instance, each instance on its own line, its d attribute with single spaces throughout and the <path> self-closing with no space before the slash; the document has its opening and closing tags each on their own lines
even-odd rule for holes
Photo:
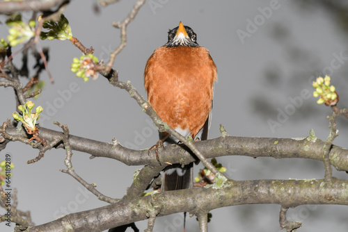
<svg viewBox="0 0 348 232">
<path fill-rule="evenodd" d="M 74 58 L 70 67 L 72 72 L 76 72 L 76 76 L 84 78 L 84 81 L 88 81 L 90 77 L 93 79 L 98 77 L 98 72 L 95 71 L 97 63 L 98 58 L 90 53 L 80 56 L 80 58 Z"/>
</svg>

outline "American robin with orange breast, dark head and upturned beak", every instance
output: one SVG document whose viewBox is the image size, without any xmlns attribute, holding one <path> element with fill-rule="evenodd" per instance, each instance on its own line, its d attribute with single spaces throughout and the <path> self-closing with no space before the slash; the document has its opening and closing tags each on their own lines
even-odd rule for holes
<svg viewBox="0 0 348 232">
<path fill-rule="evenodd" d="M 206 140 L 216 81 L 216 66 L 197 35 L 180 22 L 169 30 L 168 42 L 154 51 L 144 72 L 148 101 L 157 115 L 185 138 Z M 164 144 L 178 141 L 166 133 Z M 193 187 L 193 164 L 169 166 L 162 191 Z"/>
</svg>

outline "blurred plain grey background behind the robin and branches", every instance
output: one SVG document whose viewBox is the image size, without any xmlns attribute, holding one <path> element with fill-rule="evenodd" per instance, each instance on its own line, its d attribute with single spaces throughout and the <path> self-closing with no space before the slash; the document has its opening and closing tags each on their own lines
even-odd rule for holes
<svg viewBox="0 0 348 232">
<path fill-rule="evenodd" d="M 72 35 L 86 47 L 95 49 L 100 60 L 109 60 L 120 43 L 120 31 L 111 26 L 129 14 L 136 1 L 120 1 L 106 8 L 97 1 L 72 1 L 65 10 Z M 22 15 L 30 19 L 31 13 Z M 0 37 L 6 38 L 6 17 L 0 16 Z M 114 68 L 120 80 L 132 81 L 145 96 L 143 70 L 152 52 L 167 41 L 169 28 L 191 26 L 198 44 L 209 49 L 218 69 L 215 85 L 212 126 L 209 138 L 219 137 L 219 124 L 230 135 L 274 138 L 298 138 L 315 135 L 326 140 L 329 135 L 327 115 L 331 108 L 317 105 L 312 96 L 312 82 L 318 76 L 331 76 L 340 95 L 340 108 L 348 106 L 348 2 L 329 0 L 267 1 L 169 1 L 150 0 L 127 28 L 127 47 L 117 56 Z M 70 133 L 123 146 L 148 149 L 158 135 L 150 118 L 124 90 L 113 88 L 106 78 L 84 82 L 70 72 L 74 57 L 81 51 L 69 41 L 40 41 L 49 47 L 49 69 L 40 80 L 45 87 L 35 106 L 42 106 L 39 123 L 60 131 L 53 122 L 68 124 Z M 20 46 L 13 48 L 13 51 Z M 22 55 L 15 56 L 17 67 Z M 29 60 L 29 67 L 35 65 Z M 31 72 L 33 75 L 34 72 Z M 22 78 L 24 83 L 26 78 Z M 74 88 L 72 88 L 74 86 Z M 65 99 L 61 93 L 68 94 Z M 0 90 L 0 121 L 12 117 L 15 97 L 12 88 Z M 283 115 L 283 116 L 280 116 Z M 348 121 L 338 119 L 340 136 L 334 144 L 347 147 Z M 20 142 L 10 142 L 0 154 L 10 154 L 12 185 L 18 190 L 18 208 L 31 210 L 35 224 L 50 222 L 61 215 L 104 206 L 104 202 L 84 190 L 65 169 L 63 150 L 47 151 L 38 163 L 26 161 L 38 151 Z M 324 165 L 315 160 L 218 158 L 228 168 L 226 175 L 235 180 L 251 179 L 322 179 Z M 127 167 L 117 160 L 89 159 L 74 151 L 72 165 L 97 190 L 109 197 L 122 198 L 140 167 Z M 195 172 L 201 167 L 196 167 Z M 333 170 L 334 176 L 347 179 L 345 172 Z M 278 205 L 230 206 L 212 210 L 209 231 L 280 231 Z M 347 206 L 299 206 L 290 209 L 288 219 L 303 222 L 299 231 L 347 231 Z M 0 210 L 0 212 L 2 212 Z M 154 231 L 182 231 L 183 214 L 159 217 Z M 147 221 L 136 222 L 141 231 Z M 13 231 L 0 224 L 0 231 Z M 128 229 L 127 231 L 132 231 Z M 187 222 L 187 231 L 198 231 L 196 217 Z"/>
</svg>

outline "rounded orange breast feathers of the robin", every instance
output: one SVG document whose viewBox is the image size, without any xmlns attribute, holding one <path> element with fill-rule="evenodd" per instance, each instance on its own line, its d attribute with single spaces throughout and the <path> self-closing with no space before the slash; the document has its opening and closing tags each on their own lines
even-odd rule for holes
<svg viewBox="0 0 348 232">
<path fill-rule="evenodd" d="M 212 108 L 216 67 L 204 47 L 159 47 L 145 67 L 148 101 L 173 129 L 194 136 Z"/>
</svg>

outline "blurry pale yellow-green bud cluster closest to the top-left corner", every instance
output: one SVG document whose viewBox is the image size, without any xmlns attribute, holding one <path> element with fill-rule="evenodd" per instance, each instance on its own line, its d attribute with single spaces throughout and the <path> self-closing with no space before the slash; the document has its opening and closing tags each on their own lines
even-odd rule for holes
<svg viewBox="0 0 348 232">
<path fill-rule="evenodd" d="M 11 47 L 15 47 L 18 44 L 22 44 L 35 35 L 35 25 L 36 22 L 33 20 L 29 21 L 29 24 L 26 24 L 22 21 L 22 15 L 16 14 L 6 20 L 8 33 L 7 40 L 10 43 Z"/>
</svg>

